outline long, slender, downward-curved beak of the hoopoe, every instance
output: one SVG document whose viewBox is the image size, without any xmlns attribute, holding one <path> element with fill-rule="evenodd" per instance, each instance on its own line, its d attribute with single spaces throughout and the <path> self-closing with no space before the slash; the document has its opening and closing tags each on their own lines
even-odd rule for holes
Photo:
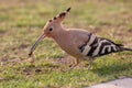
<svg viewBox="0 0 132 88">
<path fill-rule="evenodd" d="M 43 33 L 42 35 L 38 36 L 38 38 L 36 40 L 36 42 L 33 44 L 33 46 L 30 50 L 29 56 L 31 56 L 34 52 L 34 50 L 36 48 L 36 46 L 38 45 L 38 43 L 45 37 L 46 35 Z"/>
</svg>

